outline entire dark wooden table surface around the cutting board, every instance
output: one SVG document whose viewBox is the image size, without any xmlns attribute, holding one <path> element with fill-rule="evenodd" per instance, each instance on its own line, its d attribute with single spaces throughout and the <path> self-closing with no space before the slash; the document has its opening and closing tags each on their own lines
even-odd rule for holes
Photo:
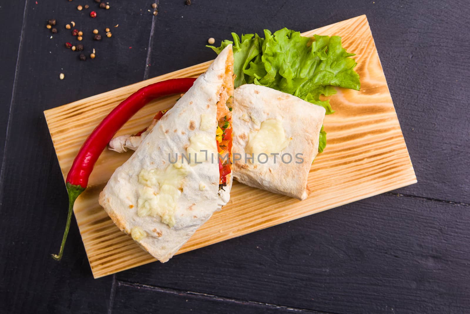
<svg viewBox="0 0 470 314">
<path fill-rule="evenodd" d="M 192 2 L 162 0 L 155 17 L 143 0 L 0 2 L 0 312 L 469 313 L 468 1 Z M 62 262 L 50 257 L 67 196 L 43 110 L 210 60 L 209 37 L 361 14 L 417 184 L 97 280 L 73 219 Z M 63 47 L 72 20 L 94 60 Z"/>
</svg>

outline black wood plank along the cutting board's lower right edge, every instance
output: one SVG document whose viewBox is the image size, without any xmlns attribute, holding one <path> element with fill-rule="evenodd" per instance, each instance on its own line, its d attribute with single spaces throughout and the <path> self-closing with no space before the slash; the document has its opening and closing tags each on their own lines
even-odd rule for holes
<svg viewBox="0 0 470 314">
<path fill-rule="evenodd" d="M 464 313 L 469 209 L 380 195 L 118 280 L 333 313 Z"/>
</svg>

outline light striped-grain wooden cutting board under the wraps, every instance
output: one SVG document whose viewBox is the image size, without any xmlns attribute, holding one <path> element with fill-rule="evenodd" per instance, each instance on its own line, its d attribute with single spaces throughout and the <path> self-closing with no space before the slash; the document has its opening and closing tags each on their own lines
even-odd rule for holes
<svg viewBox="0 0 470 314">
<path fill-rule="evenodd" d="M 357 16 L 304 36 L 313 34 L 343 38 L 347 51 L 356 54 L 361 89 L 338 89 L 330 97 L 336 113 L 325 117 L 328 145 L 310 170 L 308 187 L 312 193 L 305 201 L 298 201 L 234 182 L 229 203 L 197 230 L 178 254 L 416 183 L 367 17 Z M 126 97 L 157 81 L 196 77 L 209 64 L 211 61 L 45 111 L 64 179 L 86 137 Z M 117 135 L 145 128 L 158 110 L 170 108 L 176 98 L 158 99 L 145 106 Z M 121 232 L 98 204 L 99 193 L 111 174 L 131 154 L 105 150 L 88 188 L 75 202 L 75 217 L 95 278 L 155 261 Z"/>
</svg>

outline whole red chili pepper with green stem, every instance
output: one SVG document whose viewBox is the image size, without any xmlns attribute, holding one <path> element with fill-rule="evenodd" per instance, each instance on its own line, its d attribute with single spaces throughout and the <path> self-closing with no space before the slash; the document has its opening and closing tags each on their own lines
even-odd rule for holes
<svg viewBox="0 0 470 314">
<path fill-rule="evenodd" d="M 65 186 L 69 193 L 69 212 L 59 254 L 52 254 L 55 260 L 60 260 L 63 255 L 65 240 L 67 240 L 67 234 L 70 228 L 73 204 L 78 195 L 85 191 L 86 185 L 88 184 L 88 177 L 93 170 L 94 164 L 111 138 L 126 121 L 150 100 L 162 96 L 185 93 L 193 86 L 195 80 L 196 79 L 193 78 L 172 79 L 143 87 L 114 108 L 93 130 L 80 148 L 67 175 Z"/>
</svg>

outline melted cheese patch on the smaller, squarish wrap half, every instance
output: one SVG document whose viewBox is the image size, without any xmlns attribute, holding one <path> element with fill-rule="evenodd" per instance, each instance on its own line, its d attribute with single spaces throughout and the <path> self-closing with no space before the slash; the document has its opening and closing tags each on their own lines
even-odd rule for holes
<svg viewBox="0 0 470 314">
<path fill-rule="evenodd" d="M 286 138 L 281 121 L 268 119 L 261 123 L 258 131 L 250 132 L 245 151 L 250 155 L 254 154 L 256 161 L 259 154 L 265 153 L 269 157 L 273 153 L 280 153 L 289 145 L 291 139 Z"/>
</svg>

